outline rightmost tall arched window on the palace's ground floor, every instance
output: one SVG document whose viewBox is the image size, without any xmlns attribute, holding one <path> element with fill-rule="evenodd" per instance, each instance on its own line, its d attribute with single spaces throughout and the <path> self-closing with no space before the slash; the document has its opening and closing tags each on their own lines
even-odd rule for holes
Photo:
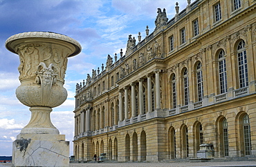
<svg viewBox="0 0 256 167">
<path fill-rule="evenodd" d="M 250 121 L 248 115 L 243 118 L 243 130 L 244 130 L 244 155 L 250 155 Z"/>
</svg>

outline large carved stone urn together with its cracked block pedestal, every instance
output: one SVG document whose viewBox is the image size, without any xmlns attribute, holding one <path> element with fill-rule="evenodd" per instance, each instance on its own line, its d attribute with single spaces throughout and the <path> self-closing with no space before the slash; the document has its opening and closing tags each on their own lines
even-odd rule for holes
<svg viewBox="0 0 256 167">
<path fill-rule="evenodd" d="M 80 44 L 54 32 L 24 32 L 8 38 L 6 48 L 19 55 L 16 96 L 31 111 L 12 144 L 13 166 L 69 166 L 69 141 L 53 126 L 50 113 L 66 100 L 67 58 L 81 51 Z"/>
</svg>

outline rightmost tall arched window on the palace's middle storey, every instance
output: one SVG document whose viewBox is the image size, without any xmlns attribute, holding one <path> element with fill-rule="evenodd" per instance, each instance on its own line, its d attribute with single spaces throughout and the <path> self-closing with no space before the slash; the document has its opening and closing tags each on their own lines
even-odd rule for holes
<svg viewBox="0 0 256 167">
<path fill-rule="evenodd" d="M 238 70 L 239 70 L 239 86 L 244 88 L 248 86 L 248 69 L 246 59 L 246 44 L 243 40 L 238 43 L 237 46 L 237 59 L 238 59 Z"/>
</svg>

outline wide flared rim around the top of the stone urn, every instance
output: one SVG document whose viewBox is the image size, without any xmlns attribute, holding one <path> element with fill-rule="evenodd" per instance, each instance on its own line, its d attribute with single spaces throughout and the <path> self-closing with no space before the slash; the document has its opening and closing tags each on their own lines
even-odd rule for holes
<svg viewBox="0 0 256 167">
<path fill-rule="evenodd" d="M 71 43 L 75 47 L 75 51 L 68 57 L 73 57 L 75 55 L 78 55 L 82 50 L 80 43 L 78 43 L 78 41 L 76 41 L 75 39 L 59 33 L 44 32 L 44 31 L 21 32 L 19 34 L 12 35 L 8 39 L 6 39 L 6 43 L 5 43 L 6 49 L 8 49 L 10 52 L 17 54 L 17 52 L 15 52 L 15 48 L 13 48 L 11 45 L 12 42 L 17 41 L 19 39 L 33 39 L 33 38 L 34 39 L 39 39 L 39 38 L 51 39 L 56 41 L 59 40 L 59 41 Z"/>
</svg>

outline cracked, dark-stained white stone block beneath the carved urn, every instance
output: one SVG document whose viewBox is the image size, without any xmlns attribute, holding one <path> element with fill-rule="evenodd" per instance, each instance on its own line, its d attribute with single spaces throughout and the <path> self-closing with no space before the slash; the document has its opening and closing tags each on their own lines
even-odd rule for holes
<svg viewBox="0 0 256 167">
<path fill-rule="evenodd" d="M 12 145 L 13 166 L 69 166 L 65 135 L 19 134 Z"/>
</svg>

